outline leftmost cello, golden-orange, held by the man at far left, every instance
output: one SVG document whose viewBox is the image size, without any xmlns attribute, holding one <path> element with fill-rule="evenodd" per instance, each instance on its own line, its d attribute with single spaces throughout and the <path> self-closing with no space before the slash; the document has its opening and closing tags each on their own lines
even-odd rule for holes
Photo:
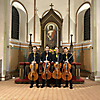
<svg viewBox="0 0 100 100">
<path fill-rule="evenodd" d="M 35 61 L 35 55 L 34 55 L 34 61 Z M 38 64 L 37 63 L 30 64 L 30 69 L 31 72 L 28 74 L 28 79 L 36 81 L 38 79 L 38 73 L 37 73 Z"/>
</svg>

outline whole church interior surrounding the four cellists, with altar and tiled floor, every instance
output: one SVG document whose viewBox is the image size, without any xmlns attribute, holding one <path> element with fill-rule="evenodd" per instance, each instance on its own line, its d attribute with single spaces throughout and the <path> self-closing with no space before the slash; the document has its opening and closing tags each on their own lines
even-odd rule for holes
<svg viewBox="0 0 100 100">
<path fill-rule="evenodd" d="M 0 0 L 0 100 L 100 100 L 99 8 L 100 0 Z M 41 55 L 47 44 L 73 55 L 72 90 L 29 88 L 32 46 Z"/>
</svg>

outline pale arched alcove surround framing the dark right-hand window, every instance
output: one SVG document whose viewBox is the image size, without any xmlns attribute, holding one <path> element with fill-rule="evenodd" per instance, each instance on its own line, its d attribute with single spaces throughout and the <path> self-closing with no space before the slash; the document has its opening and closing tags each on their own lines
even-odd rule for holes
<svg viewBox="0 0 100 100">
<path fill-rule="evenodd" d="M 84 21 L 84 16 L 86 11 L 90 8 L 90 4 L 89 3 L 84 3 L 83 5 L 81 5 L 77 11 L 76 14 L 76 18 L 77 18 L 77 22 L 76 22 L 76 42 L 77 43 L 81 43 L 84 42 L 84 37 L 86 38 L 86 35 L 84 32 L 85 31 L 85 25 L 86 25 L 86 21 Z M 89 15 L 90 16 L 90 15 Z M 90 25 L 90 23 L 88 23 Z M 90 38 L 91 39 L 91 38 Z M 88 39 L 88 40 L 90 40 Z"/>
</svg>

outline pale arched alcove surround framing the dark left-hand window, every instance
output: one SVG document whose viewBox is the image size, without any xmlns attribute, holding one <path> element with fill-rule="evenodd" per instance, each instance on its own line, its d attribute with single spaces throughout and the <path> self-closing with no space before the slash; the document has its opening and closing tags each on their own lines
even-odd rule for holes
<svg viewBox="0 0 100 100">
<path fill-rule="evenodd" d="M 19 41 L 27 42 L 28 40 L 28 12 L 25 6 L 20 1 L 12 1 L 11 19 L 12 19 L 12 7 L 15 7 L 19 13 Z M 11 20 L 11 24 L 12 24 L 12 20 Z M 11 30 L 12 30 L 12 27 L 11 27 Z M 10 38 L 12 38 L 11 34 L 10 34 Z"/>
</svg>

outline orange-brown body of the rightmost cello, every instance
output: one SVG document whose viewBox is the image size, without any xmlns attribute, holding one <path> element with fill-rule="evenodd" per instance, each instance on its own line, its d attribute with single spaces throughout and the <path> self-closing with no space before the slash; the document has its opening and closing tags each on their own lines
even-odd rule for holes
<svg viewBox="0 0 100 100">
<path fill-rule="evenodd" d="M 67 64 L 67 69 L 66 69 L 66 64 Z M 71 64 L 65 63 L 65 64 L 63 64 L 63 68 L 64 68 L 64 72 L 62 73 L 62 79 L 65 80 L 65 81 L 71 80 L 72 79 L 72 74 L 70 72 Z"/>
</svg>

